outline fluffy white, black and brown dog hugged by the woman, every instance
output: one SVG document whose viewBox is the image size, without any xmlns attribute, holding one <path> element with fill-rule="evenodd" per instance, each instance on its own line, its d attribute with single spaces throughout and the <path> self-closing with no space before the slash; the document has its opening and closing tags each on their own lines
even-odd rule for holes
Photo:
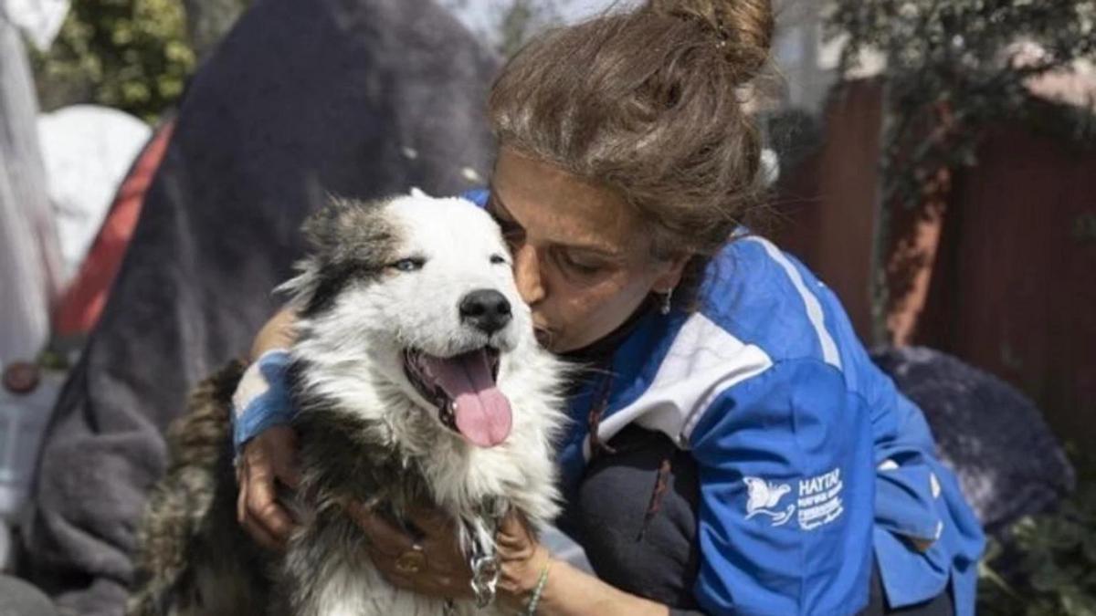
<svg viewBox="0 0 1096 616">
<path fill-rule="evenodd" d="M 305 233 L 310 252 L 279 287 L 298 315 L 287 374 L 301 481 L 287 504 L 299 525 L 273 554 L 237 522 L 230 418 L 243 370 L 232 364 L 169 432 L 130 616 L 483 613 L 390 586 L 345 503 L 395 523 L 432 505 L 481 563 L 507 511 L 534 531 L 558 513 L 564 372 L 537 344 L 491 217 L 421 192 L 335 198 Z"/>
</svg>

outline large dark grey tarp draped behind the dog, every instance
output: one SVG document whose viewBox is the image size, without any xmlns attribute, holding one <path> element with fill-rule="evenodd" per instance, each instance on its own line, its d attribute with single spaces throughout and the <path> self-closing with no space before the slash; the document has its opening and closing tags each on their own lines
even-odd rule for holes
<svg viewBox="0 0 1096 616">
<path fill-rule="evenodd" d="M 243 354 L 328 192 L 486 175 L 496 60 L 427 0 L 260 0 L 191 84 L 111 299 L 57 404 L 26 547 L 81 616 L 121 614 L 187 389 Z"/>
</svg>

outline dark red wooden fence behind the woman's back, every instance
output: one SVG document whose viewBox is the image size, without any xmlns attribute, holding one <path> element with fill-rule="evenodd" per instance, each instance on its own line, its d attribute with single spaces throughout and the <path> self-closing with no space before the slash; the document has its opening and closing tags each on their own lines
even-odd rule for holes
<svg viewBox="0 0 1096 616">
<path fill-rule="evenodd" d="M 871 83 L 834 99 L 824 145 L 781 182 L 774 233 L 865 339 L 879 100 Z M 954 178 L 938 250 L 913 342 L 1019 386 L 1060 436 L 1096 445 L 1096 148 L 992 130 Z"/>
</svg>

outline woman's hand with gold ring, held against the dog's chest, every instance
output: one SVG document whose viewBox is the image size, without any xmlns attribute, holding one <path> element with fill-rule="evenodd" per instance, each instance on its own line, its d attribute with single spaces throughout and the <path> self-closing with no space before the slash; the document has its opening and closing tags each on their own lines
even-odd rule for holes
<svg viewBox="0 0 1096 616">
<path fill-rule="evenodd" d="M 453 518 L 436 510 L 409 512 L 410 522 L 422 533 L 415 540 L 361 504 L 349 505 L 347 513 L 369 537 L 373 563 L 389 583 L 439 598 L 473 598 L 471 570 L 457 544 Z M 498 598 L 511 606 L 523 605 L 548 562 L 548 550 L 536 541 L 524 521 L 514 513 L 503 518 L 495 539 L 500 566 Z M 408 556 L 414 552 L 422 555 L 418 571 L 407 567 L 409 562 L 419 561 Z"/>
</svg>

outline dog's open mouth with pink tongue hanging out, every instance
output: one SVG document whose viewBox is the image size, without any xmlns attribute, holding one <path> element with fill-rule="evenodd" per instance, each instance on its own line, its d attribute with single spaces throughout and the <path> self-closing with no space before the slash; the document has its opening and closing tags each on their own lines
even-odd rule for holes
<svg viewBox="0 0 1096 616">
<path fill-rule="evenodd" d="M 456 402 L 457 430 L 480 447 L 493 447 L 510 435 L 510 400 L 491 376 L 486 351 L 443 360 L 425 355 L 430 372 Z"/>
</svg>

